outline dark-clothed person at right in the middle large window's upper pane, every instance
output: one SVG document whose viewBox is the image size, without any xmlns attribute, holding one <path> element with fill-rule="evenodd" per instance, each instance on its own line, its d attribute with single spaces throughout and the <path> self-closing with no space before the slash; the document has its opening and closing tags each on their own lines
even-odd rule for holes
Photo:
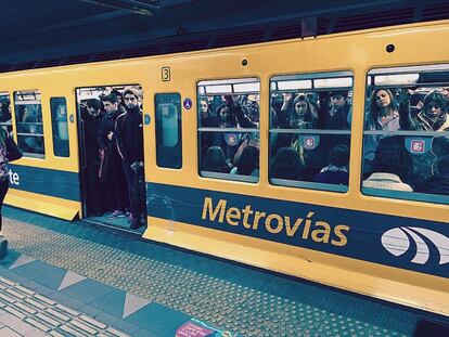
<svg viewBox="0 0 449 337">
<path fill-rule="evenodd" d="M 324 114 L 324 126 L 328 130 L 348 130 L 350 105 L 347 91 L 333 91 L 331 94 L 331 108 Z"/>
</svg>

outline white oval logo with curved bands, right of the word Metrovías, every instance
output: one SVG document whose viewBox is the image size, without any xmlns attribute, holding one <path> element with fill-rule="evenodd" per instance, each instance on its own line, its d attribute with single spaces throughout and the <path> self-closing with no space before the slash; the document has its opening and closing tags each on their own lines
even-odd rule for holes
<svg viewBox="0 0 449 337">
<path fill-rule="evenodd" d="M 411 249 L 411 242 L 414 242 L 416 250 L 411 262 L 425 264 L 428 261 L 431 249 L 426 242 L 432 243 L 438 250 L 438 264 L 449 262 L 449 237 L 440 233 L 415 226 L 401 226 L 392 229 L 382 235 L 382 245 L 394 256 L 401 256 Z"/>
</svg>

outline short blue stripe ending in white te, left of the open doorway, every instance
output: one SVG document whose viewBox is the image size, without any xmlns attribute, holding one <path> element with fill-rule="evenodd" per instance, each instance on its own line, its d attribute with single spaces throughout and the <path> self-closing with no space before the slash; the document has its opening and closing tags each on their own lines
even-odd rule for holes
<svg viewBox="0 0 449 337">
<path fill-rule="evenodd" d="M 10 187 L 79 202 L 79 174 L 38 167 L 10 165 Z"/>
</svg>

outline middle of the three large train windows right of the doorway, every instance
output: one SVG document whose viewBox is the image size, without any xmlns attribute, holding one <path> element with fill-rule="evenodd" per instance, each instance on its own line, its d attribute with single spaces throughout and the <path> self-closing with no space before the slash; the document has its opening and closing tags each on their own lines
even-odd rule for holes
<svg viewBox="0 0 449 337">
<path fill-rule="evenodd" d="M 352 101 L 350 72 L 270 80 L 270 182 L 346 192 Z"/>
</svg>

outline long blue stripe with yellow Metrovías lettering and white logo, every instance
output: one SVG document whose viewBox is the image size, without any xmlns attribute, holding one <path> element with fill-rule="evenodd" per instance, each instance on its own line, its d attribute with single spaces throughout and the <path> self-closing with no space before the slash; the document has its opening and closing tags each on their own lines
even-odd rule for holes
<svg viewBox="0 0 449 337">
<path fill-rule="evenodd" d="M 449 277 L 448 223 L 165 184 L 146 187 L 151 217 Z"/>
</svg>

